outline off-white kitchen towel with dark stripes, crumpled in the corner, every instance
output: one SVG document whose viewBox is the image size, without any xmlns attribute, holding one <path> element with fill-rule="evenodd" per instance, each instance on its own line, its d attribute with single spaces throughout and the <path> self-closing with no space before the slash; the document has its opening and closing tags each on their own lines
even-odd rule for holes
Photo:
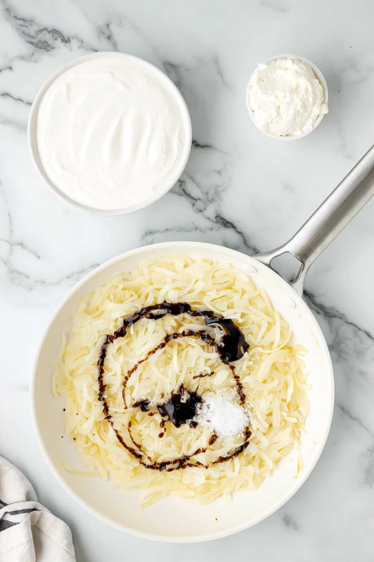
<svg viewBox="0 0 374 562">
<path fill-rule="evenodd" d="M 71 531 L 0 456 L 0 562 L 75 562 Z"/>
</svg>

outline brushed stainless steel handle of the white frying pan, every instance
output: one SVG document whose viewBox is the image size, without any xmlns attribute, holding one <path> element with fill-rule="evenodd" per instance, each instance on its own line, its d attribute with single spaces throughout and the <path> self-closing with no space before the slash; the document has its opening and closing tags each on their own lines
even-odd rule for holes
<svg viewBox="0 0 374 562">
<path fill-rule="evenodd" d="M 275 257 L 289 252 L 300 262 L 296 278 L 289 282 L 302 296 L 304 280 L 313 261 L 333 242 L 350 220 L 374 195 L 374 146 L 350 170 L 338 187 L 318 207 L 301 229 L 283 246 L 258 253 L 256 260 L 272 266 Z M 279 273 L 276 271 L 276 273 Z"/>
</svg>

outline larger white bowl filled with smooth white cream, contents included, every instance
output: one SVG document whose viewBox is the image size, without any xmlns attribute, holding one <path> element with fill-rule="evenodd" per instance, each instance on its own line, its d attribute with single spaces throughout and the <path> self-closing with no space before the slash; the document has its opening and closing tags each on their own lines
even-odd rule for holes
<svg viewBox="0 0 374 562">
<path fill-rule="evenodd" d="M 93 53 L 59 69 L 37 94 L 29 145 L 45 183 L 79 209 L 122 215 L 177 182 L 191 120 L 172 81 L 124 53 Z"/>
</svg>

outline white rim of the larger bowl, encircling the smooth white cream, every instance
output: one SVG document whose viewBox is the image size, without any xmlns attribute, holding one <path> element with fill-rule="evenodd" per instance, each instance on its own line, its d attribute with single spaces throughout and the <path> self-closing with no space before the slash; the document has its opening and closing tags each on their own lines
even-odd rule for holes
<svg viewBox="0 0 374 562">
<path fill-rule="evenodd" d="M 131 61 L 137 64 L 138 66 L 141 66 L 143 69 L 152 72 L 152 74 L 154 74 L 156 78 L 158 78 L 159 82 L 164 86 L 164 88 L 168 90 L 170 94 L 172 94 L 174 99 L 176 99 L 179 109 L 181 110 L 182 113 L 184 130 L 186 132 L 181 160 L 179 161 L 179 164 L 176 167 L 176 170 L 174 171 L 174 174 L 170 178 L 169 182 L 166 183 L 164 187 L 160 189 L 157 193 L 155 193 L 152 197 L 149 197 L 145 201 L 142 201 L 141 203 L 137 203 L 136 205 L 125 207 L 124 209 L 113 209 L 113 210 L 95 209 L 95 207 L 82 205 L 81 203 L 78 203 L 77 201 L 73 200 L 71 197 L 68 197 L 66 194 L 64 194 L 61 191 L 61 189 L 59 189 L 57 185 L 55 185 L 45 173 L 39 157 L 38 143 L 36 142 L 36 123 L 38 120 L 39 105 L 41 99 L 43 98 L 45 92 L 47 92 L 50 85 L 54 82 L 54 80 L 56 80 L 56 78 L 58 78 L 58 76 L 61 76 L 63 72 L 66 72 L 66 70 L 71 69 L 73 66 L 80 65 L 82 62 L 90 61 L 93 60 L 94 58 L 99 58 L 99 57 L 122 58 L 123 60 Z M 68 62 L 66 65 L 63 65 L 61 68 L 56 70 L 56 72 L 54 72 L 52 76 L 50 76 L 50 78 L 48 78 L 48 80 L 44 82 L 43 86 L 36 94 L 34 103 L 31 106 L 29 123 L 27 125 L 27 139 L 29 140 L 31 159 L 34 162 L 36 170 L 38 170 L 41 179 L 43 179 L 44 183 L 48 185 L 48 187 L 53 191 L 54 194 L 56 194 L 63 201 L 70 203 L 70 205 L 72 205 L 73 207 L 76 207 L 76 209 L 81 209 L 82 211 L 87 211 L 94 215 L 117 216 L 117 215 L 128 215 L 132 212 L 140 211 L 141 209 L 144 209 L 145 207 L 151 205 L 152 203 L 160 199 L 160 197 L 162 197 L 165 193 L 167 193 L 173 187 L 173 185 L 177 183 L 178 179 L 181 177 L 184 167 L 186 167 L 188 157 L 190 156 L 191 143 L 192 143 L 192 126 L 191 126 L 190 113 L 188 112 L 186 102 L 184 101 L 181 92 L 179 92 L 176 85 L 172 82 L 172 80 L 170 80 L 170 78 L 168 78 L 168 76 L 163 71 L 159 70 L 154 65 L 151 65 L 150 62 L 147 62 L 142 58 L 134 57 L 132 55 L 127 55 L 126 53 L 104 51 L 100 53 L 91 53 L 90 55 L 84 55 L 82 57 L 75 58 L 74 60 Z"/>
</svg>

